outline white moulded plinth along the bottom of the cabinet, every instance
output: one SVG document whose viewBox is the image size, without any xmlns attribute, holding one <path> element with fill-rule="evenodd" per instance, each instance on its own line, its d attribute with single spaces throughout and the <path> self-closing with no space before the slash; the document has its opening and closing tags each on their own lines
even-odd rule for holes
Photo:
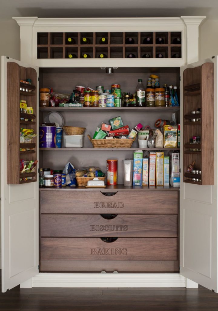
<svg viewBox="0 0 218 311">
<path fill-rule="evenodd" d="M 33 287 L 186 287 L 179 273 L 39 273 Z"/>
</svg>

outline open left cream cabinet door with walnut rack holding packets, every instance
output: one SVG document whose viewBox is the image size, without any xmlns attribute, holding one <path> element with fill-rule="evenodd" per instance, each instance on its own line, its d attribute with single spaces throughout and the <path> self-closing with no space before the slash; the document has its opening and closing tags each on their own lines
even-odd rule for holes
<svg viewBox="0 0 218 311">
<path fill-rule="evenodd" d="M 20 91 L 20 79 L 24 80 L 30 77 L 32 77 L 30 87 L 34 88 L 33 84 L 36 87 L 32 96 L 25 95 L 25 91 Z M 22 92 L 23 96 L 21 96 Z M 33 98 L 35 99 L 33 100 Z M 33 105 L 33 113 L 37 116 L 38 69 L 2 56 L 2 292 L 38 274 L 37 173 L 35 174 L 35 182 L 31 180 L 20 181 L 20 159 L 28 160 L 29 157 L 29 160 L 34 160 L 33 152 L 29 155 L 20 154 L 20 127 L 31 128 L 33 125 L 20 123 L 20 99 L 26 99 L 27 106 Z M 36 117 L 34 121 L 33 124 L 35 124 L 35 129 L 38 132 L 38 118 Z M 34 156 L 38 159 L 37 146 L 36 141 Z M 14 160 L 10 160 L 12 155 Z M 38 167 L 36 172 L 38 172 Z"/>
</svg>

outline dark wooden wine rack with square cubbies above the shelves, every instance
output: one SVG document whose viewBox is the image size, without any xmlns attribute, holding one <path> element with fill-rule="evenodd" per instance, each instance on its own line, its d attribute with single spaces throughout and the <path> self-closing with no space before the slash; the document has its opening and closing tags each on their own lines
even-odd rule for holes
<svg viewBox="0 0 218 311">
<path fill-rule="evenodd" d="M 37 33 L 37 58 L 181 58 L 181 47 L 181 32 Z"/>
</svg>

